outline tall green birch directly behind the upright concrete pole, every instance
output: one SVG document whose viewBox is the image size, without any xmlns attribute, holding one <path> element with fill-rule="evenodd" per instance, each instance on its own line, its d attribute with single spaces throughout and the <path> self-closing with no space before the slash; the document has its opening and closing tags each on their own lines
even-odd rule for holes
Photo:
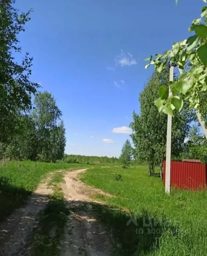
<svg viewBox="0 0 207 256">
<path fill-rule="evenodd" d="M 161 87 L 160 87 L 161 86 Z M 149 176 L 152 176 L 155 166 L 160 166 L 166 153 L 167 116 L 159 113 L 154 104 L 155 99 L 168 94 L 169 67 L 166 64 L 162 73 L 154 71 L 144 90 L 140 93 L 140 115 L 133 112 L 133 122 L 130 127 L 136 159 L 138 162 L 147 163 Z M 190 123 L 194 113 L 189 110 L 188 102 L 180 113 L 174 111 L 172 120 L 172 157 L 178 157 L 184 149 L 184 139 L 188 135 Z"/>
</svg>

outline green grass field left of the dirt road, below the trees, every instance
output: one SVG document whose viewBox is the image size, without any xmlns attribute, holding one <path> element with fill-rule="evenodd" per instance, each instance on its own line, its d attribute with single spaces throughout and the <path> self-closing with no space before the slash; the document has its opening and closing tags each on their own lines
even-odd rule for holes
<svg viewBox="0 0 207 256">
<path fill-rule="evenodd" d="M 0 162 L 0 221 L 25 202 L 47 173 L 91 166 L 94 165 L 31 161 Z"/>
</svg>

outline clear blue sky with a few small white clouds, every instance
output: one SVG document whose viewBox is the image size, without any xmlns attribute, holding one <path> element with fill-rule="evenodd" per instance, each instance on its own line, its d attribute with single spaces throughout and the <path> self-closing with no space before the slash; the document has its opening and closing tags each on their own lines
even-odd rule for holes
<svg viewBox="0 0 207 256">
<path fill-rule="evenodd" d="M 16 0 L 32 80 L 63 113 L 67 154 L 119 156 L 153 72 L 144 59 L 186 38 L 202 0 Z M 114 129 L 116 128 L 116 129 Z M 113 132 L 112 132 L 113 131 Z"/>
</svg>

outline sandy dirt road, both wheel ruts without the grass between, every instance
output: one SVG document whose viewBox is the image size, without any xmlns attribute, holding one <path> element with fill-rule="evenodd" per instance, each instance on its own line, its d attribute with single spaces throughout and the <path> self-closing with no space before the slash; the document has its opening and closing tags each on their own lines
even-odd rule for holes
<svg viewBox="0 0 207 256">
<path fill-rule="evenodd" d="M 94 215 L 91 203 L 96 201 L 90 197 L 92 194 L 105 193 L 78 180 L 78 174 L 84 171 L 86 169 L 63 171 L 64 182 L 60 187 L 71 214 L 65 228 L 60 256 L 109 256 L 110 242 L 104 227 Z M 51 177 L 39 185 L 25 207 L 18 209 L 0 224 L 0 255 L 30 255 L 27 241 L 32 229 L 38 225 L 38 213 L 44 209 L 48 196 L 52 194 L 52 188 L 48 188 Z"/>
</svg>

